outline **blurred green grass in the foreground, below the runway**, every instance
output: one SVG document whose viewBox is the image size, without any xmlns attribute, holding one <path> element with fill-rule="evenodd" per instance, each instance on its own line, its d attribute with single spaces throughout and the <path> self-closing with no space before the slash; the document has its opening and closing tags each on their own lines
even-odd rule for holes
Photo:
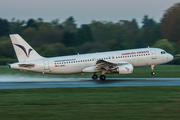
<svg viewBox="0 0 180 120">
<path fill-rule="evenodd" d="M 179 120 L 180 87 L 0 90 L 0 120 Z"/>
</svg>

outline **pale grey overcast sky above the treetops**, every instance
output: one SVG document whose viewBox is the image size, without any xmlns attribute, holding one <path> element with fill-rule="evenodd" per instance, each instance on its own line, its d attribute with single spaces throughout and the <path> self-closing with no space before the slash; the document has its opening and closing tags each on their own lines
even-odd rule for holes
<svg viewBox="0 0 180 120">
<path fill-rule="evenodd" d="M 92 20 L 132 20 L 139 23 L 144 15 L 157 22 L 165 10 L 180 0 L 0 0 L 0 17 L 20 20 L 43 18 L 50 22 L 63 22 L 73 16 L 77 24 L 88 24 Z"/>
</svg>

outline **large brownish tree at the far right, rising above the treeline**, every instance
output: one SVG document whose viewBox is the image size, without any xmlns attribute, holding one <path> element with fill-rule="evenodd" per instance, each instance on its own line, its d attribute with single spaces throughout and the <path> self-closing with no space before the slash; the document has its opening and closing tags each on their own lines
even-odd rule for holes
<svg viewBox="0 0 180 120">
<path fill-rule="evenodd" d="M 180 45 L 180 3 L 166 10 L 161 20 L 161 32 L 164 38 Z"/>
</svg>

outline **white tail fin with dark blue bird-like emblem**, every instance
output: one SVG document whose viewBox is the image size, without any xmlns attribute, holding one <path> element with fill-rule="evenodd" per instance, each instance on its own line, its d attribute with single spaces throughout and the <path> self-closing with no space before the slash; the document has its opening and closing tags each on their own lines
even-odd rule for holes
<svg viewBox="0 0 180 120">
<path fill-rule="evenodd" d="M 10 38 L 19 62 L 43 58 L 18 34 L 10 35 Z"/>
</svg>

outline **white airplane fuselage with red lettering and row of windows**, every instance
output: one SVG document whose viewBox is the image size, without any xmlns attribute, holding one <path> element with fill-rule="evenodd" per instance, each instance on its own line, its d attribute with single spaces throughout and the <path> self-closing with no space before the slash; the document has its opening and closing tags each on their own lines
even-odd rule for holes
<svg viewBox="0 0 180 120">
<path fill-rule="evenodd" d="M 111 63 L 130 63 L 134 67 L 151 66 L 171 61 L 173 56 L 159 48 L 142 48 L 112 52 L 42 58 L 11 64 L 14 69 L 51 74 L 83 73 L 85 68 L 95 66 L 97 60 Z M 34 67 L 20 67 L 19 64 L 34 64 Z M 100 72 L 100 71 L 93 71 Z"/>
</svg>

